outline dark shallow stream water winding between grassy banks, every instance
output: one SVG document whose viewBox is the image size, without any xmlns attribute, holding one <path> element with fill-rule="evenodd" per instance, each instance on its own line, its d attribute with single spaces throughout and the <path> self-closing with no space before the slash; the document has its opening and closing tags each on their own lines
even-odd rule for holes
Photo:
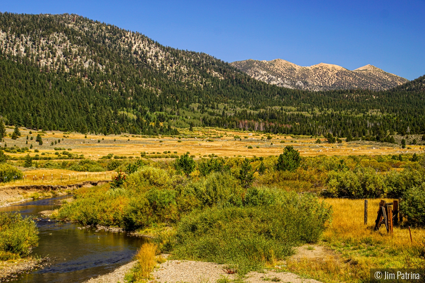
<svg viewBox="0 0 425 283">
<path fill-rule="evenodd" d="M 42 198 L 26 201 L 10 207 L 2 207 L 0 211 L 19 212 L 23 217 L 41 218 L 43 210 L 60 207 L 59 201 L 71 198 L 62 195 L 53 198 Z M 131 237 L 125 232 L 105 232 L 95 227 L 83 227 L 74 223 L 59 223 L 49 218 L 37 222 L 40 231 L 39 245 L 33 249 L 32 255 L 40 258 L 48 257 L 51 267 L 45 266 L 29 274 L 20 275 L 18 282 L 28 283 L 80 283 L 91 277 L 112 272 L 119 266 L 132 260 L 136 250 L 147 241 L 146 238 Z M 21 278 L 23 276 L 23 278 Z"/>
</svg>

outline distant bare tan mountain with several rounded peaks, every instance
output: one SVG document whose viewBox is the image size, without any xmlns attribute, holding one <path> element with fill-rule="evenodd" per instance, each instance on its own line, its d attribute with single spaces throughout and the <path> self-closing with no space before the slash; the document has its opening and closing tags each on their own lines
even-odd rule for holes
<svg viewBox="0 0 425 283">
<path fill-rule="evenodd" d="M 311 91 L 333 89 L 386 90 L 408 82 L 407 79 L 365 65 L 350 71 L 338 65 L 320 63 L 301 67 L 282 59 L 272 61 L 244 60 L 230 63 L 252 78 L 284 88 Z"/>
</svg>

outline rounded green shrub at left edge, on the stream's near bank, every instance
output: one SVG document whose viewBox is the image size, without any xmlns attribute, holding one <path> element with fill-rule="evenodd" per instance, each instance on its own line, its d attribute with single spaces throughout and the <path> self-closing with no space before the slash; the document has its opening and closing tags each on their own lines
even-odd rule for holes
<svg viewBox="0 0 425 283">
<path fill-rule="evenodd" d="M 38 246 L 37 226 L 19 213 L 0 212 L 0 258 L 27 256 Z"/>
</svg>

